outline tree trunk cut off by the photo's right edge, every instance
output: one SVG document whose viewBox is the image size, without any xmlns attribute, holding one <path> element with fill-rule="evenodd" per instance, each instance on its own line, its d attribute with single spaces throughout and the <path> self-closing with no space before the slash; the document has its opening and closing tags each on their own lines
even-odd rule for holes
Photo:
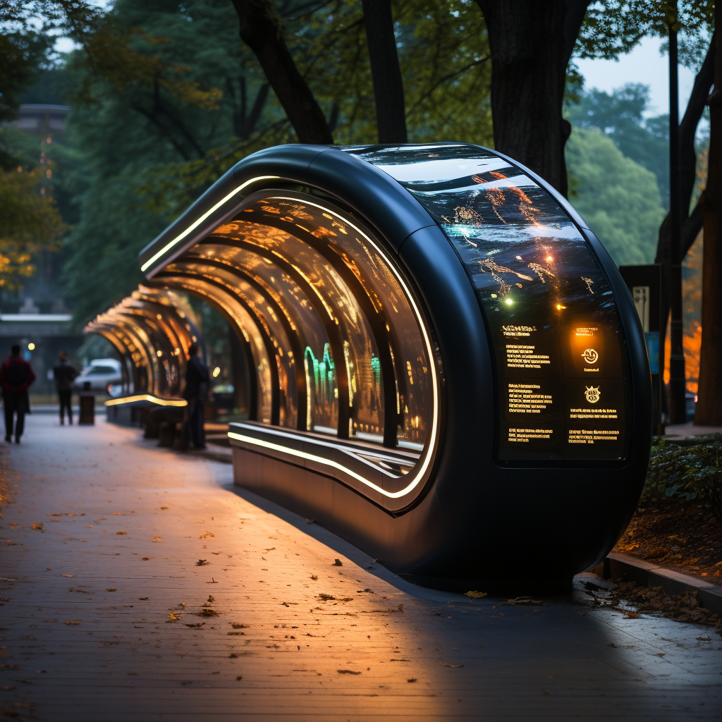
<svg viewBox="0 0 722 722">
<path fill-rule="evenodd" d="M 715 89 L 710 95 L 707 188 L 700 199 L 704 219 L 702 348 L 695 424 L 722 425 L 722 4 L 715 6 Z"/>
</svg>

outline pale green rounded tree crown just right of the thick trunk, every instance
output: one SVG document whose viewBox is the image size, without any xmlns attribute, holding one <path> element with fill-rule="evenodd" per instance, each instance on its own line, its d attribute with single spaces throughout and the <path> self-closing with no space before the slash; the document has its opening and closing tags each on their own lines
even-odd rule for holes
<svg viewBox="0 0 722 722">
<path fill-rule="evenodd" d="M 573 129 L 567 142 L 570 201 L 617 265 L 648 264 L 664 218 L 654 175 L 599 131 Z"/>
</svg>

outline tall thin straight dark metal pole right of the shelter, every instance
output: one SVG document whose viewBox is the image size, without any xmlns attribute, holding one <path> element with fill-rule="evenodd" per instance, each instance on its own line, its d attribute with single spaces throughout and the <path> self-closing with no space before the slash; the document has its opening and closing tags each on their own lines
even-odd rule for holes
<svg viewBox="0 0 722 722">
<path fill-rule="evenodd" d="M 669 422 L 687 422 L 684 345 L 682 342 L 682 253 L 679 221 L 679 91 L 677 87 L 677 7 L 669 22 Z"/>
</svg>

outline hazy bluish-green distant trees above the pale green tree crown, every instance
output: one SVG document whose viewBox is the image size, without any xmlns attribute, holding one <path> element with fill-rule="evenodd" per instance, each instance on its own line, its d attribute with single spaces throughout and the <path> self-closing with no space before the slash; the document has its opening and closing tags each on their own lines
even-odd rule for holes
<svg viewBox="0 0 722 722">
<path fill-rule="evenodd" d="M 662 204 L 669 205 L 669 116 L 645 120 L 649 87 L 627 84 L 612 93 L 578 90 L 576 103 L 567 105 L 567 119 L 577 128 L 603 131 L 623 155 L 657 179 Z"/>
</svg>

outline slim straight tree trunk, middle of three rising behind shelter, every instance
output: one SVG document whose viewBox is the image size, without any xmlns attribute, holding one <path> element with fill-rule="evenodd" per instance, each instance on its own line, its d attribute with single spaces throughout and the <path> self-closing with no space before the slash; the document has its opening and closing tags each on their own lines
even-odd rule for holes
<svg viewBox="0 0 722 722">
<path fill-rule="evenodd" d="M 379 143 L 406 142 L 404 81 L 393 35 L 391 0 L 363 0 Z"/>
</svg>

